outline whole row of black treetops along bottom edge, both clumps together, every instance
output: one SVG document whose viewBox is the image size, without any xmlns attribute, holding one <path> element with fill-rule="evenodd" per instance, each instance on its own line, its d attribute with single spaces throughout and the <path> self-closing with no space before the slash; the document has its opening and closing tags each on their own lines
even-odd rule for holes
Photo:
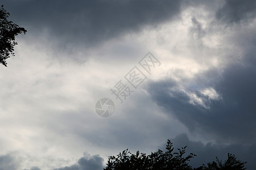
<svg viewBox="0 0 256 170">
<path fill-rule="evenodd" d="M 104 170 L 244 170 L 246 162 L 237 160 L 233 154 L 228 154 L 228 159 L 222 163 L 217 157 L 217 162 L 213 161 L 198 168 L 192 168 L 189 165 L 191 158 L 196 155 L 190 153 L 185 156 L 185 147 L 178 148 L 178 152 L 174 152 L 174 147 L 170 140 L 167 141 L 166 150 L 158 150 L 151 152 L 150 155 L 140 153 L 131 154 L 126 149 L 117 156 L 109 156 L 107 166 Z"/>
</svg>

